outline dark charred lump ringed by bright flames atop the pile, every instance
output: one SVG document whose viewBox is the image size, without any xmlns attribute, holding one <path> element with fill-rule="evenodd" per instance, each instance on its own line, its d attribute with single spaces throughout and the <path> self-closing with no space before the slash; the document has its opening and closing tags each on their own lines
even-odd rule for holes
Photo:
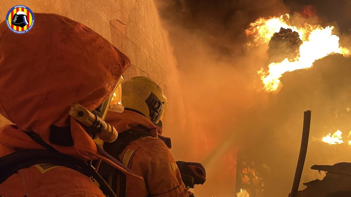
<svg viewBox="0 0 351 197">
<path fill-rule="evenodd" d="M 280 28 L 280 31 L 274 33 L 269 41 L 268 63 L 281 62 L 285 58 L 292 60 L 298 57 L 301 44 L 302 40 L 297 32 Z"/>
</svg>

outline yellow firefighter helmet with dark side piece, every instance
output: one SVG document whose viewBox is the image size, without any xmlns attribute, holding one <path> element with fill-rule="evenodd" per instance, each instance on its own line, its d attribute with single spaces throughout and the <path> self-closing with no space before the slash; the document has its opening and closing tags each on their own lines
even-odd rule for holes
<svg viewBox="0 0 351 197">
<path fill-rule="evenodd" d="M 122 82 L 122 106 L 125 110 L 135 111 L 160 125 L 167 105 L 165 93 L 150 78 L 137 76 Z"/>
</svg>

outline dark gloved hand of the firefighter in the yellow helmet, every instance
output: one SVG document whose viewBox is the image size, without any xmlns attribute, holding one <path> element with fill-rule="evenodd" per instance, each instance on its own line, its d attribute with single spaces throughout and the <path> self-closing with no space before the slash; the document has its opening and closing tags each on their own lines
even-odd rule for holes
<svg viewBox="0 0 351 197">
<path fill-rule="evenodd" d="M 204 184 L 206 181 L 206 171 L 201 163 L 176 161 L 181 179 L 185 186 L 194 188 L 194 185 Z"/>
</svg>

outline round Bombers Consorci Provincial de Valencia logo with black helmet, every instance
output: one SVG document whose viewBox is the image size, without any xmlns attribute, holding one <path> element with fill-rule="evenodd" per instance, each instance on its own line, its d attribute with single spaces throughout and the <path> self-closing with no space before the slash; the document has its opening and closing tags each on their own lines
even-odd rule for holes
<svg viewBox="0 0 351 197">
<path fill-rule="evenodd" d="M 27 6 L 14 6 L 6 15 L 7 27 L 16 34 L 29 32 L 34 25 L 34 14 Z"/>
</svg>

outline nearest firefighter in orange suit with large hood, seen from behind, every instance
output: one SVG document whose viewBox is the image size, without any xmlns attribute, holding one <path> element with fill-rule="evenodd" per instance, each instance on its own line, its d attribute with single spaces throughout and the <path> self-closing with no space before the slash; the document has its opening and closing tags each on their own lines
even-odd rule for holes
<svg viewBox="0 0 351 197">
<path fill-rule="evenodd" d="M 142 179 L 68 115 L 79 103 L 104 118 L 129 65 L 99 34 L 63 16 L 35 13 L 22 35 L 0 23 L 0 114 L 13 123 L 0 128 L 0 196 L 104 196 L 108 189 L 90 177 L 94 159 Z"/>
</svg>

